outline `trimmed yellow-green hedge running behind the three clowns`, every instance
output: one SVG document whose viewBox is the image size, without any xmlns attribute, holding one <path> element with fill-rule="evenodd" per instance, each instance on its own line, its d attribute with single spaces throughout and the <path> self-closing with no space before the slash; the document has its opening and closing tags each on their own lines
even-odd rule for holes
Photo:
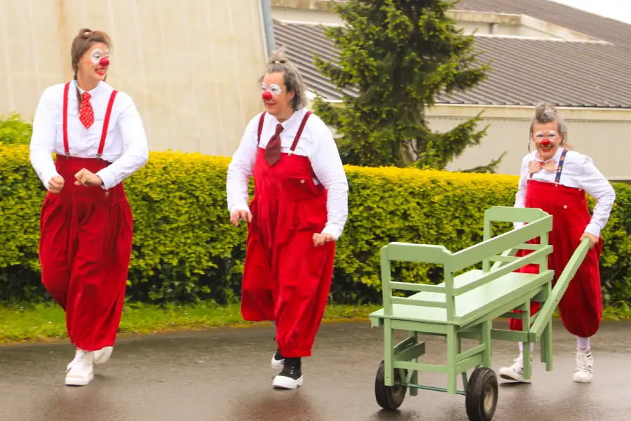
<svg viewBox="0 0 631 421">
<path fill-rule="evenodd" d="M 125 182 L 135 217 L 128 295 L 144 302 L 238 299 L 246 228 L 226 210 L 229 159 L 152 153 Z M 332 298 L 379 302 L 379 248 L 389 241 L 441 244 L 456 251 L 482 240 L 483 212 L 512 206 L 517 178 L 399 168 L 346 168 L 349 220 L 338 243 Z M 631 187 L 603 232 L 604 300 L 630 302 Z M 0 146 L 0 300 L 41 300 L 37 243 L 45 190 L 28 147 Z M 591 202 L 593 206 L 593 201 Z M 428 265 L 399 265 L 402 279 L 440 280 Z"/>
</svg>

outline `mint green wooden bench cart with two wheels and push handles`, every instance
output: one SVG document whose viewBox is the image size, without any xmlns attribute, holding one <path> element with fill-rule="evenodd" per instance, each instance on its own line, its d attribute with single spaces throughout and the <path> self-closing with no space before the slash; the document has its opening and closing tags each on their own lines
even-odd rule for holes
<svg viewBox="0 0 631 421">
<path fill-rule="evenodd" d="M 491 237 L 492 222 L 527 222 L 519 229 Z M 489 421 L 498 399 L 498 382 L 491 370 L 491 341 L 524 342 L 524 377 L 531 378 L 531 342 L 541 342 L 541 362 L 552 370 L 552 314 L 569 281 L 583 262 L 589 248 L 585 239 L 552 288 L 554 272 L 548 269 L 552 246 L 548 233 L 552 215 L 540 209 L 494 207 L 484 213 L 484 241 L 452 253 L 442 246 L 411 243 L 390 243 L 381 248 L 381 285 L 384 307 L 370 314 L 372 327 L 384 328 L 384 360 L 376 373 L 376 401 L 386 410 L 396 410 L 409 390 L 416 396 L 419 389 L 466 396 L 466 412 L 470 421 Z M 540 239 L 539 244 L 528 241 Z M 533 250 L 516 257 L 517 250 Z M 427 285 L 392 279 L 391 262 L 419 262 L 442 265 L 444 282 Z M 539 265 L 538 274 L 516 273 L 531 263 Z M 481 264 L 463 274 L 454 273 Z M 395 290 L 415 292 L 409 297 L 393 295 Z M 536 314 L 531 302 L 541 302 Z M 522 310 L 513 313 L 513 310 Z M 521 318 L 522 331 L 493 328 L 498 317 Z M 408 338 L 394 345 L 395 330 L 407 331 Z M 419 362 L 425 354 L 425 343 L 419 333 L 440 335 L 447 342 L 447 364 Z M 479 345 L 462 349 L 463 339 Z M 473 373 L 468 377 L 467 371 Z M 447 374 L 447 388 L 419 385 L 419 372 Z M 457 390 L 458 376 L 463 389 Z"/>
</svg>

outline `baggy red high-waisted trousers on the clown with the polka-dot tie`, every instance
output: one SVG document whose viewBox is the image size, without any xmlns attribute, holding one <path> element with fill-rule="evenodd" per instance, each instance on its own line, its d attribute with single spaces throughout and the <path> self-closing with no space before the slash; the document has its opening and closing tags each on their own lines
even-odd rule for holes
<svg viewBox="0 0 631 421">
<path fill-rule="evenodd" d="M 133 238 L 122 183 L 107 191 L 74 185 L 82 168 L 97 173 L 106 164 L 57 156 L 64 187 L 60 194 L 48 192 L 41 208 L 42 282 L 65 309 L 70 340 L 88 352 L 116 340 Z"/>
</svg>

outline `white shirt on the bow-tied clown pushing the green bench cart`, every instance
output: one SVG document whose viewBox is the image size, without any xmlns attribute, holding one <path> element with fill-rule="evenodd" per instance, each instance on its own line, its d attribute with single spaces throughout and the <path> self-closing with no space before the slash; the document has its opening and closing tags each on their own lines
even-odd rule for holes
<svg viewBox="0 0 631 421">
<path fill-rule="evenodd" d="M 559 147 L 553 160 L 559 162 L 563 149 Z M 520 173 L 520 185 L 515 194 L 515 207 L 523 208 L 526 200 L 526 186 L 529 180 L 528 166 L 530 161 L 540 161 L 538 153 L 536 151 L 531 152 L 524 156 L 522 161 L 522 170 Z M 555 182 L 557 177 L 556 169 L 553 172 L 545 171 L 543 168 L 533 174 L 532 180 L 542 182 Z M 574 187 L 576 189 L 583 189 L 587 194 L 596 199 L 597 204 L 592 213 L 592 219 L 589 225 L 585 228 L 585 232 L 599 236 L 600 232 L 604 229 L 613 202 L 616 201 L 616 191 L 613 189 L 609 181 L 598 171 L 594 165 L 594 161 L 589 156 L 579 154 L 575 151 L 568 151 L 565 155 L 565 161 L 563 163 L 563 169 L 561 172 L 561 178 L 559 179 L 559 185 L 565 187 Z M 515 228 L 521 227 L 523 224 L 516 223 Z"/>
</svg>

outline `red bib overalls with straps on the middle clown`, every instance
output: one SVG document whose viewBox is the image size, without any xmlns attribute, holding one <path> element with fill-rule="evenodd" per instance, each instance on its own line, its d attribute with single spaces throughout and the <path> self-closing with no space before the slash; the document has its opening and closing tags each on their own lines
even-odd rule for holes
<svg viewBox="0 0 631 421">
<path fill-rule="evenodd" d="M 259 141 L 263 113 L 259 122 Z M 276 321 L 285 358 L 311 356 L 329 295 L 334 242 L 313 246 L 327 222 L 327 191 L 315 184 L 306 156 L 293 154 L 311 113 L 304 116 L 291 152 L 269 166 L 259 147 L 250 203 L 241 313 L 245 320 Z"/>
</svg>

